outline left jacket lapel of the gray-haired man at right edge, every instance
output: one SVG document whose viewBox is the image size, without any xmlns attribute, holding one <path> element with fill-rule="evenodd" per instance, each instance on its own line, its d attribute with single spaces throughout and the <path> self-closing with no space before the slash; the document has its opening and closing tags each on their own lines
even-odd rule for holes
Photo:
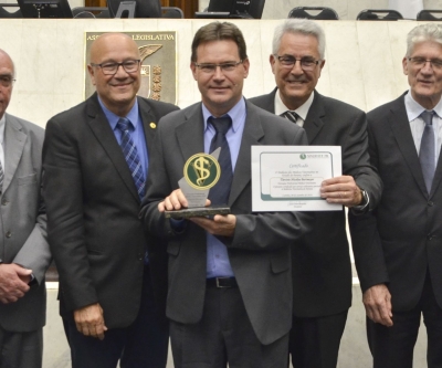
<svg viewBox="0 0 442 368">
<path fill-rule="evenodd" d="M 403 95 L 396 101 L 394 106 L 390 109 L 390 114 L 387 116 L 387 120 L 389 122 L 391 130 L 393 132 L 399 150 L 410 168 L 411 175 L 414 177 L 414 180 L 417 181 L 422 193 L 428 196 L 425 181 L 423 180 L 421 162 L 419 161 L 414 140 L 411 135 Z"/>
</svg>

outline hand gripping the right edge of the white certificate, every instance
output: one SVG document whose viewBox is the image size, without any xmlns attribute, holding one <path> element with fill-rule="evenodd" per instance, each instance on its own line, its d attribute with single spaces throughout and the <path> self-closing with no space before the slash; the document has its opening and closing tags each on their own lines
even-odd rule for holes
<svg viewBox="0 0 442 368">
<path fill-rule="evenodd" d="M 362 192 L 351 176 L 345 175 L 324 180 L 320 186 L 320 197 L 328 203 L 339 203 L 347 207 L 359 206 Z"/>
</svg>

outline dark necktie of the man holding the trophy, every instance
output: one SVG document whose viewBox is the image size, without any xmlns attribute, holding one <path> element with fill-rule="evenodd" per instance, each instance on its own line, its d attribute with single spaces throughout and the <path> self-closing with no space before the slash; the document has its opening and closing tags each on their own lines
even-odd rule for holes
<svg viewBox="0 0 442 368">
<path fill-rule="evenodd" d="M 232 119 L 229 115 L 214 118 L 209 117 L 209 123 L 212 124 L 217 134 L 214 135 L 212 143 L 210 144 L 210 153 L 221 147 L 220 157 L 218 162 L 221 167 L 220 180 L 217 185 L 210 189 L 209 199 L 212 204 L 227 204 L 229 202 L 230 187 L 232 186 L 233 171 L 232 171 L 232 159 L 230 157 L 230 148 L 225 134 L 232 125 Z"/>
</svg>

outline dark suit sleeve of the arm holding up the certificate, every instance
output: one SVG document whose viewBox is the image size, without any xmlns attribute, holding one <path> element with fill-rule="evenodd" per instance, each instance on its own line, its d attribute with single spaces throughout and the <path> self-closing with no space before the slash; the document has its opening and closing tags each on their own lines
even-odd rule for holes
<svg viewBox="0 0 442 368">
<path fill-rule="evenodd" d="M 343 172 L 355 178 L 359 188 L 368 192 L 372 211 L 379 203 L 382 193 L 382 181 L 376 167 L 370 165 L 368 153 L 367 118 L 358 111 L 343 144 Z"/>
</svg>

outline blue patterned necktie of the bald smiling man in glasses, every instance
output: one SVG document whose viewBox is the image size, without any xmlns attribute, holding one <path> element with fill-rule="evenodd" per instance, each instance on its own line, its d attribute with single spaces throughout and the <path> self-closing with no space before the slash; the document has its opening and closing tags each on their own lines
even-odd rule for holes
<svg viewBox="0 0 442 368">
<path fill-rule="evenodd" d="M 145 196 L 146 180 L 143 172 L 141 161 L 138 156 L 137 147 L 135 146 L 134 140 L 130 136 L 129 127 L 130 120 L 126 117 L 120 117 L 117 123 L 117 128 L 122 130 L 122 143 L 119 146 L 122 147 L 126 162 L 129 166 L 139 198 L 143 199 L 143 197 Z"/>
</svg>

